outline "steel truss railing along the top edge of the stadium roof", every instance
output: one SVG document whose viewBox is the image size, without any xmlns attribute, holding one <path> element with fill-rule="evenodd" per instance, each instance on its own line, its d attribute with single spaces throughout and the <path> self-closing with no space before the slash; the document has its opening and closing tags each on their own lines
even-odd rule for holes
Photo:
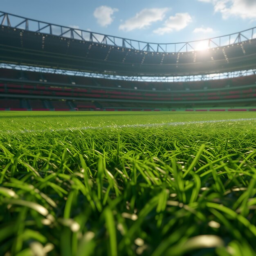
<svg viewBox="0 0 256 256">
<path fill-rule="evenodd" d="M 33 20 L 33 19 L 22 17 L 22 16 L 14 15 L 11 13 L 6 13 L 3 11 L 0 11 L 0 17 L 3 17 L 1 22 L 2 26 L 18 28 L 20 25 L 25 23 L 25 30 L 33 31 L 37 33 L 43 33 L 43 34 L 47 34 L 44 32 L 44 29 L 49 27 L 49 34 L 54 36 L 63 36 L 65 38 L 76 39 L 74 36 L 76 35 L 76 36 L 79 36 L 78 40 L 89 41 L 92 43 L 101 43 L 109 46 L 118 46 L 118 47 L 123 47 L 128 49 L 134 49 L 134 50 L 142 50 L 142 51 L 146 50 L 147 52 L 162 52 L 162 53 L 188 52 L 191 49 L 194 50 L 196 46 L 200 44 L 200 42 L 205 42 L 207 40 L 208 40 L 209 47 L 211 47 L 211 43 L 213 43 L 217 47 L 222 47 L 227 45 L 227 41 L 222 40 L 222 39 L 225 39 L 226 37 L 229 37 L 229 45 L 237 42 L 240 43 L 242 41 L 241 37 L 245 38 L 245 40 L 251 40 L 254 37 L 256 38 L 256 36 L 254 36 L 254 30 L 256 29 L 256 27 L 253 27 L 237 33 L 214 37 L 214 38 L 208 38 L 204 40 L 195 40 L 195 41 L 181 42 L 181 43 L 148 43 L 148 42 L 139 41 L 139 40 L 121 38 L 118 36 L 110 36 L 106 34 L 94 33 L 91 31 L 86 31 L 81 29 L 74 29 L 72 27 L 65 27 L 61 25 L 48 23 L 48 22 L 43 22 L 40 20 Z M 31 22 L 38 22 L 38 29 L 32 29 L 32 26 L 29 26 L 29 23 Z M 45 26 L 40 27 L 40 23 L 45 24 Z M 58 27 L 59 28 L 58 30 L 60 30 L 61 33 L 57 33 L 56 31 L 54 31 L 52 29 L 52 26 Z M 250 34 L 251 36 L 250 37 L 247 36 L 246 33 Z M 84 35 L 87 35 L 87 36 L 84 36 Z M 236 39 L 232 41 L 231 36 L 234 36 Z M 99 40 L 99 38 L 103 38 L 103 40 Z M 216 41 L 219 41 L 219 43 L 217 44 Z M 221 42 L 224 42 L 224 43 L 221 43 Z M 141 49 L 141 45 L 145 45 L 145 46 Z M 179 50 L 177 51 L 177 49 Z"/>
</svg>

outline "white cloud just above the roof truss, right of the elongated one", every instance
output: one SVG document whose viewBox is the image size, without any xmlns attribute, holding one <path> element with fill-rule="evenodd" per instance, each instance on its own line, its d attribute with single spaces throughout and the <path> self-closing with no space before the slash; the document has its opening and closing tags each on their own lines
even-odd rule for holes
<svg viewBox="0 0 256 256">
<path fill-rule="evenodd" d="M 184 29 L 189 23 L 192 22 L 192 18 L 189 13 L 176 13 L 175 16 L 170 16 L 165 22 L 163 27 L 155 29 L 155 34 L 163 35 L 170 33 L 173 30 L 179 31 Z"/>
</svg>

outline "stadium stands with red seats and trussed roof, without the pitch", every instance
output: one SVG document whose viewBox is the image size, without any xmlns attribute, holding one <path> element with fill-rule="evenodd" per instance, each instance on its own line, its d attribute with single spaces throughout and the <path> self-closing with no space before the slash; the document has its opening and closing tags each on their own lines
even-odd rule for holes
<svg viewBox="0 0 256 256">
<path fill-rule="evenodd" d="M 256 27 L 157 44 L 0 22 L 0 110 L 256 110 Z"/>
</svg>

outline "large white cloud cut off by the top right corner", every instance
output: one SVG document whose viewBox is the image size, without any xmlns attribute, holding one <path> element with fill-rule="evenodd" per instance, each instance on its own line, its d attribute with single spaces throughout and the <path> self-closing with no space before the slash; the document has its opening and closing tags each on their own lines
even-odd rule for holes
<svg viewBox="0 0 256 256">
<path fill-rule="evenodd" d="M 256 19 L 256 0 L 198 0 L 211 2 L 215 12 L 220 12 L 223 19 L 238 16 L 243 19 Z"/>
</svg>

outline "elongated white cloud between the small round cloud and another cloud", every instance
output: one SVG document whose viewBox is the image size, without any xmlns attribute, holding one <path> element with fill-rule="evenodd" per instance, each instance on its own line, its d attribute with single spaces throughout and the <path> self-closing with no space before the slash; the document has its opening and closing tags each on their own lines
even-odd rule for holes
<svg viewBox="0 0 256 256">
<path fill-rule="evenodd" d="M 168 8 L 142 9 L 140 12 L 119 26 L 120 30 L 131 31 L 150 26 L 153 22 L 163 20 Z"/>
</svg>

